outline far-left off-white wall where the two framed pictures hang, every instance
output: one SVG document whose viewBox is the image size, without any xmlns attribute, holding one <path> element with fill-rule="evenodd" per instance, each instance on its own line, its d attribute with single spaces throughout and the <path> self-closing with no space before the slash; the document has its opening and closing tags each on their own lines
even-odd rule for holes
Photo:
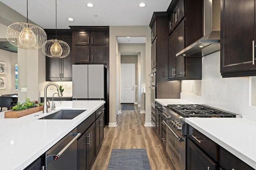
<svg viewBox="0 0 256 170">
<path fill-rule="evenodd" d="M 6 62 L 6 75 L 0 75 L 6 77 L 6 89 L 0 89 L 0 95 L 18 93 L 15 90 L 15 64 L 18 63 L 17 53 L 0 49 L 0 61 Z"/>
</svg>

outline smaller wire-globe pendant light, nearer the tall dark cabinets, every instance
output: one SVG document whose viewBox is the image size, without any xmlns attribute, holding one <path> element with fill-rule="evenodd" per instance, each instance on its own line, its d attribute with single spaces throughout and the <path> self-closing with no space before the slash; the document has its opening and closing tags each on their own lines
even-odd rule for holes
<svg viewBox="0 0 256 170">
<path fill-rule="evenodd" d="M 56 4 L 56 37 L 57 37 L 57 0 Z M 42 48 L 43 53 L 51 58 L 64 58 L 70 53 L 70 47 L 68 44 L 61 40 L 48 40 L 45 46 Z"/>
</svg>

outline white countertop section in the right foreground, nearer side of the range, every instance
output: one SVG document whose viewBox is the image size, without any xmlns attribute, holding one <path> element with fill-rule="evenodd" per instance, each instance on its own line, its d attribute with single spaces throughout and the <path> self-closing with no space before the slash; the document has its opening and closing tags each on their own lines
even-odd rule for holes
<svg viewBox="0 0 256 170">
<path fill-rule="evenodd" d="M 256 122 L 243 118 L 187 118 L 185 121 L 256 169 Z"/>
</svg>

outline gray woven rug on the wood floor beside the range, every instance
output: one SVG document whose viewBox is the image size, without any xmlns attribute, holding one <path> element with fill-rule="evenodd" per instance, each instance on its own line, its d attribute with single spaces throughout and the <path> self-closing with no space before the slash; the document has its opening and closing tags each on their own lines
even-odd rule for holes
<svg viewBox="0 0 256 170">
<path fill-rule="evenodd" d="M 108 170 L 150 170 L 146 149 L 112 149 Z"/>
</svg>

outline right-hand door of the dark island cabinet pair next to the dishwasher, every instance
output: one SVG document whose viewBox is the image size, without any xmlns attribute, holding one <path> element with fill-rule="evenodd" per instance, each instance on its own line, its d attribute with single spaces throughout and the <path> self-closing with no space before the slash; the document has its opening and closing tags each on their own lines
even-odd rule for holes
<svg viewBox="0 0 256 170">
<path fill-rule="evenodd" d="M 87 146 L 86 146 L 86 160 L 87 169 L 89 170 L 95 159 L 95 123 L 88 128 L 87 132 Z"/>
</svg>

